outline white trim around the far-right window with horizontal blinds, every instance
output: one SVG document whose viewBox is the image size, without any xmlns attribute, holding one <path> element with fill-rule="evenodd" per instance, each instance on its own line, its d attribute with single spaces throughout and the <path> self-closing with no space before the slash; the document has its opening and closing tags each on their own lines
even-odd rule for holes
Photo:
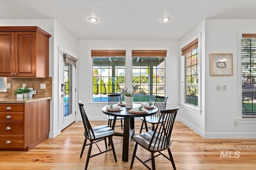
<svg viewBox="0 0 256 170">
<path fill-rule="evenodd" d="M 237 49 L 238 49 L 238 62 L 237 62 L 237 68 L 238 68 L 238 74 L 237 74 L 237 80 L 238 80 L 238 92 L 237 92 L 237 123 L 238 124 L 256 124 L 256 118 L 248 118 L 248 117 L 242 117 L 242 33 L 250 33 L 255 34 L 255 30 L 238 30 L 237 31 Z"/>
</svg>

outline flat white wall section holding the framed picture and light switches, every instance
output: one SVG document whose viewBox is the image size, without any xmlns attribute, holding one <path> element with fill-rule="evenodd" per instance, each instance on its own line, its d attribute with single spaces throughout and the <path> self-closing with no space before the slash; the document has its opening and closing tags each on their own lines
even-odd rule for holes
<svg viewBox="0 0 256 170">
<path fill-rule="evenodd" d="M 256 120 L 240 119 L 241 33 L 256 33 L 255 28 L 256 20 L 205 22 L 206 138 L 256 138 Z M 210 53 L 233 53 L 234 75 L 210 76 Z M 216 85 L 226 85 L 226 91 L 216 91 Z"/>
</svg>

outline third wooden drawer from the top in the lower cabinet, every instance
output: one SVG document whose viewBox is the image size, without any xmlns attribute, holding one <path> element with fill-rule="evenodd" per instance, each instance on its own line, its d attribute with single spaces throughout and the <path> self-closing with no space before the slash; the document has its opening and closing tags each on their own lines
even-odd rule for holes
<svg viewBox="0 0 256 170">
<path fill-rule="evenodd" d="M 0 123 L 1 135 L 22 135 L 23 122 L 1 122 Z"/>
</svg>

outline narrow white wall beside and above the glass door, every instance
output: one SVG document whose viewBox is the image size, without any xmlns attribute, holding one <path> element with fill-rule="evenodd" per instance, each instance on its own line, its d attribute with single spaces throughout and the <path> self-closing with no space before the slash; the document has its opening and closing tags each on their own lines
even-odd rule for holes
<svg viewBox="0 0 256 170">
<path fill-rule="evenodd" d="M 62 25 L 60 25 L 56 20 L 54 20 L 54 78 L 53 80 L 53 107 L 54 110 L 51 114 L 51 118 L 53 120 L 53 127 L 51 127 L 50 137 L 55 137 L 56 135 L 61 133 L 61 125 L 63 121 L 63 113 L 62 112 L 62 102 L 63 98 L 60 97 L 62 94 L 60 86 L 63 82 L 60 82 L 62 79 L 60 75 L 63 75 L 63 57 L 59 55 L 59 50 L 65 52 L 72 57 L 78 59 L 78 40 L 71 35 Z M 73 104 L 76 106 L 77 98 L 73 99 Z M 60 109 L 60 107 L 62 107 Z M 74 107 L 73 107 L 74 108 Z M 75 107 L 77 108 L 77 107 Z"/>
</svg>

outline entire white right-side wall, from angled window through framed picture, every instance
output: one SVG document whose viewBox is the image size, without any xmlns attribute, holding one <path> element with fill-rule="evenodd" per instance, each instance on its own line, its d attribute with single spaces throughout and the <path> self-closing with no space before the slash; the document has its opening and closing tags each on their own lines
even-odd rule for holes
<svg viewBox="0 0 256 170">
<path fill-rule="evenodd" d="M 182 48 L 198 35 L 201 39 L 202 103 L 198 108 L 181 104 L 179 119 L 204 138 L 256 138 L 256 119 L 242 118 L 240 61 L 241 33 L 256 33 L 255 27 L 256 20 L 205 20 L 180 40 Z M 210 76 L 210 53 L 233 53 L 234 75 Z M 226 91 L 216 91 L 216 85 L 226 85 Z"/>
</svg>

